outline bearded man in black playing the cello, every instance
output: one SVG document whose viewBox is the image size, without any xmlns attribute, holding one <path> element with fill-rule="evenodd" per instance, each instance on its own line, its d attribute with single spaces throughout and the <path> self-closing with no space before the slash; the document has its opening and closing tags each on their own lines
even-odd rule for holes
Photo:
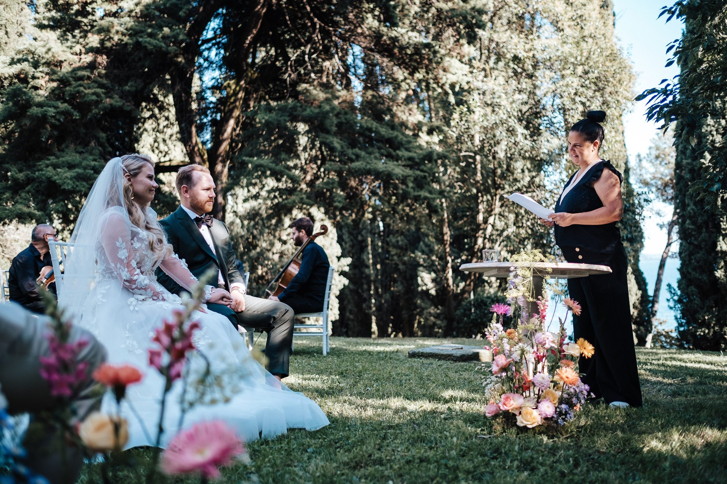
<svg viewBox="0 0 727 484">
<path fill-rule="evenodd" d="M 278 297 L 270 296 L 268 299 L 288 304 L 296 314 L 320 312 L 323 310 L 330 267 L 328 256 L 316 242 L 308 241 L 313 234 L 313 220 L 310 217 L 295 219 L 289 228 L 290 238 L 295 246 L 305 244 L 299 256 L 300 269 Z"/>
</svg>

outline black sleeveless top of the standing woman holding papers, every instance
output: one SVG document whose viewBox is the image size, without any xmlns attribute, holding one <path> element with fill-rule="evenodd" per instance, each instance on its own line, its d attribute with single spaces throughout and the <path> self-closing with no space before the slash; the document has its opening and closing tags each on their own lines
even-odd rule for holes
<svg viewBox="0 0 727 484">
<path fill-rule="evenodd" d="M 619 182 L 624 181 L 624 177 L 611 164 L 611 161 L 599 161 L 590 167 L 577 184 L 566 193 L 566 196 L 563 196 L 561 192 L 561 197 L 558 198 L 558 203 L 555 205 L 555 211 L 581 214 L 585 211 L 600 209 L 603 203 L 591 184 L 601 178 L 603 169 L 614 172 L 619 177 Z M 571 175 L 568 183 L 573 180 L 576 173 Z M 616 227 L 616 222 L 604 225 L 569 225 L 569 227 L 555 225 L 555 243 L 561 248 L 579 247 L 600 254 L 613 254 L 621 246 L 621 231 L 619 227 Z"/>
</svg>

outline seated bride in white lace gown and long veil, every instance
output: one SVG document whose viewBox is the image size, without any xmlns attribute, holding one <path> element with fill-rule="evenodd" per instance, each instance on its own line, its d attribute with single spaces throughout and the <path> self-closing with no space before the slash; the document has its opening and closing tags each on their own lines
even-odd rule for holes
<svg viewBox="0 0 727 484">
<path fill-rule="evenodd" d="M 156 442 L 164 379 L 149 366 L 148 350 L 157 347 L 151 341 L 154 329 L 172 320 L 173 310 L 183 310 L 180 297 L 166 291 L 154 271 L 161 267 L 188 291 L 196 284 L 148 206 L 157 187 L 147 156 L 126 155 L 106 164 L 73 230 L 75 246 L 60 291 L 60 307 L 105 345 L 109 363 L 129 363 L 145 374 L 122 403 L 129 417 L 126 448 Z M 219 299 L 220 291 L 207 286 L 206 299 Z M 180 426 L 210 419 L 223 420 L 248 442 L 292 427 L 315 430 L 329 424 L 313 400 L 281 385 L 252 358 L 227 318 L 203 306 L 193 319 L 201 326 L 193 337 L 198 351 L 190 353 L 188 387 L 177 379 L 166 395 L 161 446 Z M 202 386 L 198 377 L 207 361 L 214 384 Z M 111 395 L 102 410 L 116 412 Z"/>
</svg>

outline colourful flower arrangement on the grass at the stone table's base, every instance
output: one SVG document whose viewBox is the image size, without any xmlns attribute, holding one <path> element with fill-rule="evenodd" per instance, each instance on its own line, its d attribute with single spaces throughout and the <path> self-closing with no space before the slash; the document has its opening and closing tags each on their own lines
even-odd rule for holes
<svg viewBox="0 0 727 484">
<path fill-rule="evenodd" d="M 507 281 L 508 304 L 494 304 L 491 324 L 485 334 L 493 360 L 481 368 L 490 374 L 483 382 L 490 398 L 485 414 L 514 421 L 518 427 L 562 426 L 574 419 L 590 394 L 578 374 L 580 358 L 593 356 L 593 345 L 585 339 L 566 342 L 563 320 L 554 334 L 546 324 L 548 299 L 534 297 L 534 262 L 547 262 L 539 251 L 515 256 Z M 543 291 L 545 294 L 545 291 Z M 556 289 L 556 293 L 558 291 Z M 562 293 L 560 293 L 562 294 Z M 529 314 L 531 302 L 537 312 Z M 579 315 L 578 302 L 566 298 L 563 305 Z M 505 317 L 513 315 L 513 328 Z"/>
</svg>

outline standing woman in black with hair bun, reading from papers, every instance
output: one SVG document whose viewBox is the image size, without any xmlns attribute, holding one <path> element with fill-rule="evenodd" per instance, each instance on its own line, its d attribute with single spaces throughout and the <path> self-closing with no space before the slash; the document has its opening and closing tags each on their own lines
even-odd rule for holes
<svg viewBox="0 0 727 484">
<path fill-rule="evenodd" d="M 544 220 L 555 226 L 555 243 L 568 262 L 607 265 L 610 274 L 568 280 L 571 299 L 581 304 L 573 316 L 576 339 L 595 347 L 593 358 L 579 366 L 596 398 L 614 407 L 641 406 L 636 367 L 631 307 L 627 286 L 626 251 L 616 226 L 623 214 L 621 173 L 601 159 L 603 111 L 588 111 L 568 134 L 571 160 L 579 170 L 571 175 L 555 205 L 555 214 Z"/>
</svg>

